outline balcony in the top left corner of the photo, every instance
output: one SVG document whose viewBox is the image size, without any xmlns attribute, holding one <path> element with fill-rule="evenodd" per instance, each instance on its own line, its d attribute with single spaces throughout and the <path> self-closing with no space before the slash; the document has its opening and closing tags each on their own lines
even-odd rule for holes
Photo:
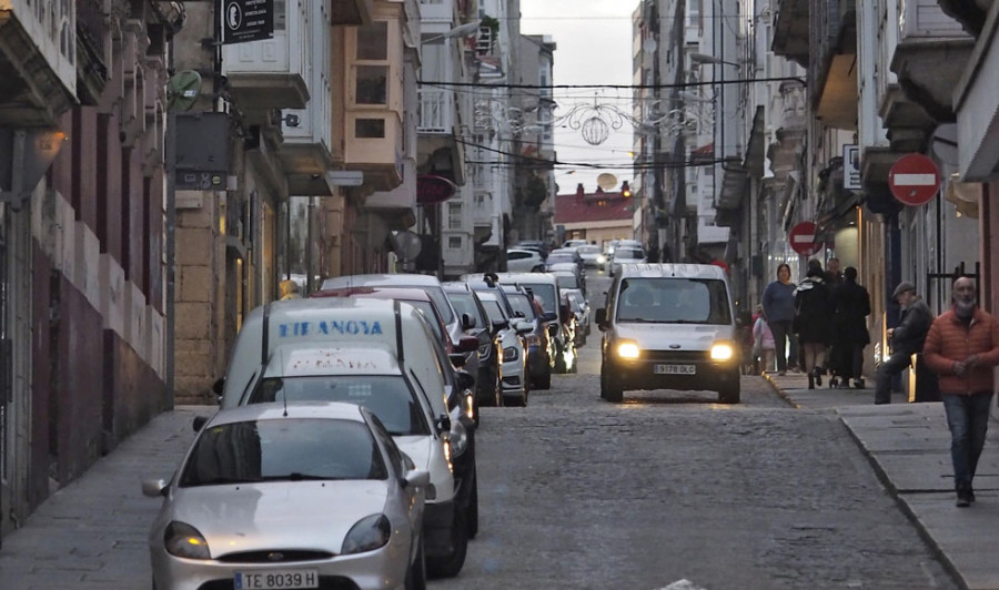
<svg viewBox="0 0 999 590">
<path fill-rule="evenodd" d="M 37 3 L 0 2 L 0 125 L 52 126 L 78 102 L 75 2 Z"/>
</svg>

